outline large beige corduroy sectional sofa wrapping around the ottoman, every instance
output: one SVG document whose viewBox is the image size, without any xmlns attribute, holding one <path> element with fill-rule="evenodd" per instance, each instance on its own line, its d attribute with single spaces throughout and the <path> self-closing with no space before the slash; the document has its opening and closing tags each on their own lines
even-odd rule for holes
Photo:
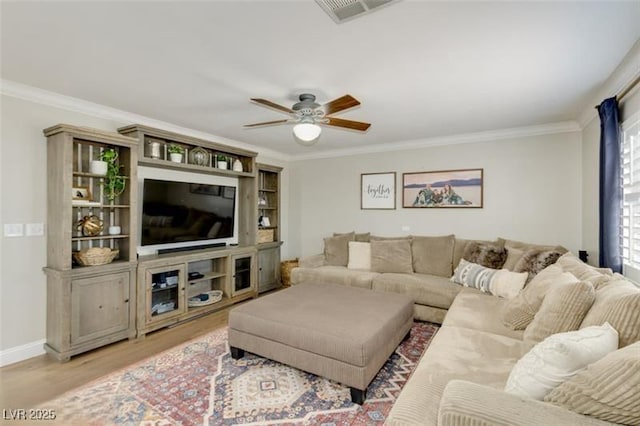
<svg viewBox="0 0 640 426">
<path fill-rule="evenodd" d="M 345 238 L 355 239 L 349 234 Z M 327 265 L 327 259 L 336 260 L 335 253 L 331 252 L 335 247 L 330 247 L 335 242 L 332 239 L 325 241 L 328 244 L 323 255 L 301 259 L 300 267 L 292 271 L 293 284 L 332 282 L 409 294 L 414 298 L 416 319 L 442 324 L 400 393 L 386 424 L 640 424 L 640 289 L 637 286 L 610 270 L 588 266 L 571 253 L 560 256 L 559 252 L 564 252 L 561 247 L 503 239 L 490 243 L 453 239 L 449 249 L 448 244 L 443 243 L 452 238 L 409 240 L 413 244 L 410 256 L 413 256 L 414 267 L 416 262 L 425 261 L 427 253 L 435 253 L 439 262 L 446 262 L 450 256 L 449 276 L 415 270 L 381 272 L 375 260 L 370 270 Z M 389 246 L 373 241 L 375 239 L 370 244 L 372 259 L 376 256 L 374 245 L 383 246 L 391 259 L 399 255 L 397 251 L 390 252 Z M 416 241 L 418 244 L 414 244 Z M 522 268 L 526 260 L 524 264 L 530 267 L 531 281 L 512 299 L 451 282 L 454 265 L 469 255 L 470 244 L 504 248 L 507 252 L 504 267 L 510 269 L 517 269 L 516 265 Z M 426 252 L 419 253 L 419 250 Z M 553 259 L 557 262 L 547 266 L 536 264 L 535 259 L 525 259 L 527 253 L 533 252 L 538 253 L 539 260 L 543 251 L 558 252 Z M 406 244 L 404 252 L 406 254 Z M 543 399 L 511 389 L 514 383 L 516 388 L 527 383 L 521 375 L 522 371 L 529 372 L 522 367 L 526 366 L 527 357 L 545 354 L 542 348 L 546 343 L 551 344 L 550 336 L 560 339 L 577 333 L 579 339 L 583 339 L 582 333 L 592 329 L 598 333 L 611 330 L 609 334 L 616 334 L 621 349 L 586 368 L 580 366 L 576 376 L 560 385 L 555 383 L 557 387 Z M 531 369 L 532 374 L 535 376 L 535 370 L 540 369 Z M 510 390 L 505 391 L 505 387 Z"/>
</svg>

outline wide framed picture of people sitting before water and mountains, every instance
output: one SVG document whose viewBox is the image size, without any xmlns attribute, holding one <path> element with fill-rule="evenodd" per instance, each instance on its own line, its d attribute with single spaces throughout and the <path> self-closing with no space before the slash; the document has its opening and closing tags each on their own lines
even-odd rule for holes
<svg viewBox="0 0 640 426">
<path fill-rule="evenodd" d="M 483 169 L 402 174 L 403 208 L 482 208 Z"/>
</svg>

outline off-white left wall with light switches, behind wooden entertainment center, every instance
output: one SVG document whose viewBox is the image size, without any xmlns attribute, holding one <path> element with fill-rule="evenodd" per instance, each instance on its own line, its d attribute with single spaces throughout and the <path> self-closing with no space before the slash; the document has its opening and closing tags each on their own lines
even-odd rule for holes
<svg viewBox="0 0 640 426">
<path fill-rule="evenodd" d="M 16 97 L 1 98 L 0 223 L 46 223 L 46 127 L 68 123 L 115 132 L 140 122 L 113 120 L 48 106 Z M 118 113 L 126 117 L 127 113 Z M 142 123 L 153 125 L 153 123 Z M 168 130 L 175 129 L 169 128 Z M 199 135 L 199 137 L 202 137 Z M 207 139 L 206 137 L 204 137 Z M 211 139 L 211 138 L 210 138 Z M 213 138 L 211 140 L 217 141 Z M 229 144 L 227 140 L 222 143 Z M 247 148 L 245 145 L 239 145 Z M 250 149 L 250 148 L 249 148 Z M 286 161 L 258 156 L 258 161 L 283 166 L 282 235 L 288 238 L 289 171 Z M 43 353 L 46 318 L 46 237 L 4 237 L 0 245 L 0 365 Z M 283 246 L 283 257 L 288 244 Z"/>
</svg>

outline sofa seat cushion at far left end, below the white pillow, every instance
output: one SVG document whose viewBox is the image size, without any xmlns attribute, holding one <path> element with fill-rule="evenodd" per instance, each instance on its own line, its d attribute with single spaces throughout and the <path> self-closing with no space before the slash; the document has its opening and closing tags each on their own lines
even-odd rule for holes
<svg viewBox="0 0 640 426">
<path fill-rule="evenodd" d="M 348 269 L 346 266 L 319 266 L 317 268 L 294 268 L 291 271 L 291 282 L 342 284 L 349 287 L 371 288 L 373 277 L 377 272 Z"/>
</svg>

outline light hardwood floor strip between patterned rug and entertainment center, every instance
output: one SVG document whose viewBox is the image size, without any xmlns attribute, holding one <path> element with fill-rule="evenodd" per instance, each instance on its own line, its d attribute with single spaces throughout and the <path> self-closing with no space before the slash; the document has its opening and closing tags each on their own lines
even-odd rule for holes
<svg viewBox="0 0 640 426">
<path fill-rule="evenodd" d="M 225 327 L 231 307 L 58 363 L 47 355 L 0 368 L 0 409 L 34 408 L 58 395 L 180 343 Z M 1 422 L 0 422 L 1 423 Z"/>
</svg>

